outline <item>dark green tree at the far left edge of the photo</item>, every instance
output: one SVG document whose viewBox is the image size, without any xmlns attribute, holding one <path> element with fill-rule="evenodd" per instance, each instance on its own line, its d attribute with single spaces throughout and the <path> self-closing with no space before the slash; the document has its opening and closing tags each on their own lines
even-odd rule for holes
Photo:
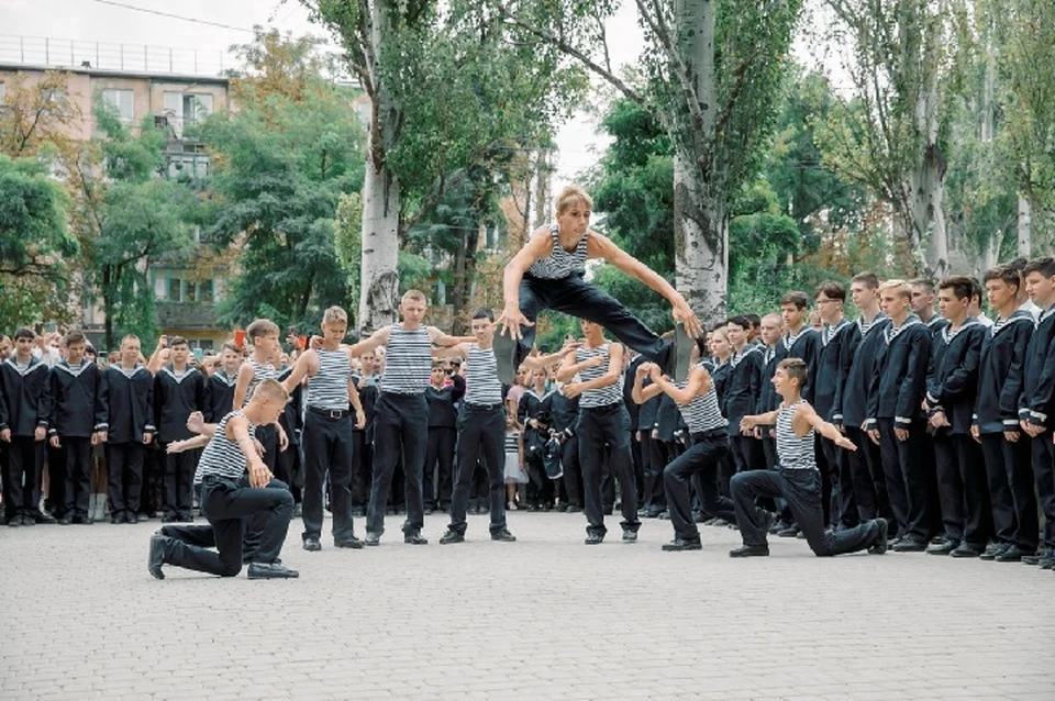
<svg viewBox="0 0 1055 701">
<path fill-rule="evenodd" d="M 63 257 L 77 240 L 66 229 L 67 198 L 32 159 L 0 155 L 0 326 L 62 316 L 69 303 Z"/>
</svg>

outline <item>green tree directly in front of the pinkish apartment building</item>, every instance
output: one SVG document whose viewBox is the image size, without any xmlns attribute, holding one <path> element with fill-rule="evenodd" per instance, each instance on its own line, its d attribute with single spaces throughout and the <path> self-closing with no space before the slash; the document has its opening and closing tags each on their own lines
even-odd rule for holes
<svg viewBox="0 0 1055 701">
<path fill-rule="evenodd" d="M 151 266 L 191 248 L 196 200 L 164 177 L 166 136 L 153 118 L 133 133 L 99 101 L 96 119 L 100 135 L 71 178 L 78 188 L 73 221 L 85 245 L 86 293 L 101 300 L 104 343 L 113 348 L 126 333 L 156 335 Z"/>
</svg>

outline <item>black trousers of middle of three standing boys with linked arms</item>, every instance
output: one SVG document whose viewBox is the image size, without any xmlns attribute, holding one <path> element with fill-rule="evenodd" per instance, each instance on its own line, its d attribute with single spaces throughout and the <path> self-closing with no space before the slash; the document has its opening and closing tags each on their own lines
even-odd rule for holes
<svg viewBox="0 0 1055 701">
<path fill-rule="evenodd" d="M 419 533 L 424 525 L 421 472 L 429 443 L 429 405 L 424 394 L 381 392 L 374 414 L 374 481 L 366 530 L 385 533 L 385 505 L 396 463 L 402 456 L 407 521 L 403 533 Z"/>
</svg>

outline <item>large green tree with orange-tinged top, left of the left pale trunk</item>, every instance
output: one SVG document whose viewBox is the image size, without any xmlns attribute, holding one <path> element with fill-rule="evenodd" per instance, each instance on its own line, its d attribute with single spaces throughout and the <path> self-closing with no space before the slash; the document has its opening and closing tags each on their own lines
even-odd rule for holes
<svg viewBox="0 0 1055 701">
<path fill-rule="evenodd" d="M 349 307 L 335 218 L 341 197 L 363 185 L 364 134 L 354 94 L 321 77 L 310 44 L 258 34 L 244 52 L 248 75 L 235 80 L 238 111 L 201 131 L 214 164 L 208 235 L 242 247 L 221 323 L 312 327 L 325 307 Z"/>
</svg>

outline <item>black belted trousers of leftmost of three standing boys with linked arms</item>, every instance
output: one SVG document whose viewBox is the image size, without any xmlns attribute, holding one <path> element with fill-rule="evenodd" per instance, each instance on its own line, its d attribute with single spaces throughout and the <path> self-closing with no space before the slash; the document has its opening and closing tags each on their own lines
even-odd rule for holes
<svg viewBox="0 0 1055 701">
<path fill-rule="evenodd" d="M 323 486 L 330 476 L 333 539 L 347 541 L 352 530 L 352 416 L 331 418 L 309 408 L 304 412 L 301 445 L 304 447 L 303 538 L 322 535 Z"/>
</svg>

